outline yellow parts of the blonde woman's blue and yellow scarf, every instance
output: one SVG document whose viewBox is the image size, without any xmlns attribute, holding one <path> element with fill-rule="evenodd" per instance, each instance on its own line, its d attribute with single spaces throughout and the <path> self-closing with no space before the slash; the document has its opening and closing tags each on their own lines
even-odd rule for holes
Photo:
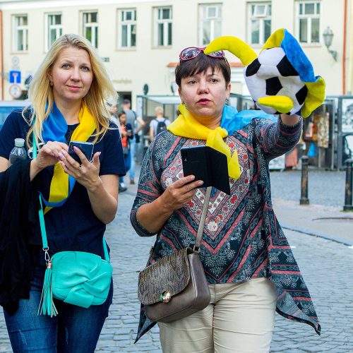
<svg viewBox="0 0 353 353">
<path fill-rule="evenodd" d="M 95 118 L 92 116 L 85 104 L 82 104 L 78 114 L 77 128 L 72 133 L 71 141 L 87 141 L 95 131 Z M 59 203 L 68 197 L 68 174 L 64 172 L 61 164 L 57 162 L 54 166 L 54 175 L 50 184 L 49 203 Z M 51 210 L 52 207 L 46 207 L 44 213 Z"/>
</svg>

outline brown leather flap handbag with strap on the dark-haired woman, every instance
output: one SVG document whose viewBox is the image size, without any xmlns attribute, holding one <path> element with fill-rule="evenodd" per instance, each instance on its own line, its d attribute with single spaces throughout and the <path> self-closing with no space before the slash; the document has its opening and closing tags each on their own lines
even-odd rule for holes
<svg viewBox="0 0 353 353">
<path fill-rule="evenodd" d="M 138 275 L 138 300 L 144 304 L 146 316 L 151 321 L 170 323 L 210 304 L 210 290 L 199 249 L 211 189 L 208 187 L 206 191 L 193 249 L 187 247 L 165 256 Z"/>
</svg>

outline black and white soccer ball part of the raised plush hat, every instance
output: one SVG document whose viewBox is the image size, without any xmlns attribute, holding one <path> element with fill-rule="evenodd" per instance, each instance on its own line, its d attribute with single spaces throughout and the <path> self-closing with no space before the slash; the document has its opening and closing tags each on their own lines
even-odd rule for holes
<svg viewBox="0 0 353 353">
<path fill-rule="evenodd" d="M 258 100 L 268 96 L 286 96 L 292 102 L 287 114 L 296 114 L 303 107 L 308 88 L 299 73 L 290 64 L 281 47 L 265 49 L 244 70 L 246 85 L 256 105 L 268 114 L 279 114 L 273 107 L 266 107 Z"/>
</svg>

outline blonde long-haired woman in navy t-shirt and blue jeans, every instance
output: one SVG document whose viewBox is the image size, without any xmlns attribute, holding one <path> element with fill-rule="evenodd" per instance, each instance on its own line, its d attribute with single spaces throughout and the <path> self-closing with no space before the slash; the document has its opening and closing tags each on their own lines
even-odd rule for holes
<svg viewBox="0 0 353 353">
<path fill-rule="evenodd" d="M 12 112 L 0 131 L 1 174 L 16 168 L 18 173 L 28 170 L 30 188 L 35 189 L 35 197 L 39 191 L 47 205 L 44 221 L 50 256 L 58 251 L 104 254 L 104 231 L 114 220 L 119 175 L 125 174 L 119 129 L 109 121 L 106 105 L 115 96 L 107 71 L 90 43 L 78 35 L 63 35 L 49 49 L 32 79 L 30 107 Z M 26 148 L 30 148 L 33 132 L 37 144 L 44 144 L 37 158 L 27 162 L 27 169 L 17 165 L 8 168 L 14 138 L 25 138 Z M 92 160 L 78 149 L 80 162 L 68 155 L 70 140 L 94 143 Z M 73 182 L 73 187 L 60 187 L 63 179 L 59 175 L 70 185 Z M 94 352 L 112 303 L 112 283 L 102 305 L 83 309 L 55 301 L 57 316 L 37 315 L 46 266 L 40 232 L 30 234 L 30 240 L 28 235 L 16 233 L 18 244 L 27 247 L 13 247 L 8 251 L 13 260 L 5 256 L 0 263 L 1 270 L 7 264 L 12 271 L 6 283 L 11 295 L 3 289 L 0 304 L 13 352 Z M 0 280 L 4 283 L 4 278 Z"/>
</svg>

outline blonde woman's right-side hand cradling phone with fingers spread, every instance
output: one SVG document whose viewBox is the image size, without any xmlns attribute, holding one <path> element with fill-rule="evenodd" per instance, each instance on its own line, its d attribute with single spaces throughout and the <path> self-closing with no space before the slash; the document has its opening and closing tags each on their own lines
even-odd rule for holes
<svg viewBox="0 0 353 353">
<path fill-rule="evenodd" d="M 63 150 L 61 152 L 63 157 L 59 160 L 61 167 L 63 167 L 68 175 L 75 178 L 78 183 L 92 191 L 102 182 L 100 179 L 99 158 L 101 152 L 95 152 L 91 163 L 79 148 L 75 146 L 73 149 L 78 157 L 80 157 L 81 163 L 76 162 L 71 155 L 68 155 L 68 152 Z"/>
</svg>

